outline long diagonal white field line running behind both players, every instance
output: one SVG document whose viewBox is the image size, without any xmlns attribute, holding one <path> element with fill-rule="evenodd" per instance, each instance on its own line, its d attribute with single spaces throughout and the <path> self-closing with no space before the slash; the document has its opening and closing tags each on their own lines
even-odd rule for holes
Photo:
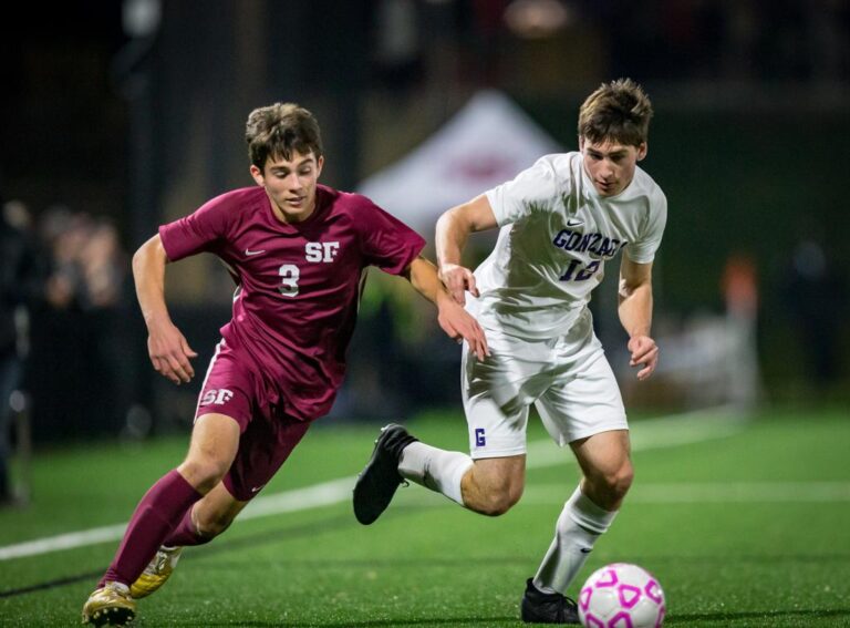
<svg viewBox="0 0 850 628">
<path fill-rule="evenodd" d="M 662 416 L 635 423 L 632 429 L 632 449 L 644 450 L 671 447 L 721 439 L 740 431 L 746 421 L 733 411 L 706 410 Z M 560 449 L 550 440 L 528 443 L 528 467 L 540 469 L 574 462 L 572 454 Z M 351 497 L 356 477 L 341 477 L 303 488 L 294 488 L 272 495 L 260 495 L 239 515 L 239 519 L 250 519 L 280 513 L 291 513 L 310 508 L 330 506 Z M 630 496 L 631 500 L 631 496 Z M 124 536 L 127 524 L 115 524 L 56 536 L 37 538 L 0 547 L 0 560 L 37 556 L 85 547 L 99 543 L 118 541 Z"/>
</svg>

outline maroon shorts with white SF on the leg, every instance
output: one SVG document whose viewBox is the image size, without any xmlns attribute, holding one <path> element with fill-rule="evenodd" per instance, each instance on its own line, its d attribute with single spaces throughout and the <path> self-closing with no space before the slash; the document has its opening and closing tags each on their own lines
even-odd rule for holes
<svg viewBox="0 0 850 628">
<path fill-rule="evenodd" d="M 253 362 L 224 341 L 216 347 L 198 398 L 195 420 L 225 414 L 239 424 L 239 449 L 224 478 L 225 487 L 240 502 L 253 498 L 296 449 L 309 421 L 279 410 L 268 394 Z"/>
</svg>

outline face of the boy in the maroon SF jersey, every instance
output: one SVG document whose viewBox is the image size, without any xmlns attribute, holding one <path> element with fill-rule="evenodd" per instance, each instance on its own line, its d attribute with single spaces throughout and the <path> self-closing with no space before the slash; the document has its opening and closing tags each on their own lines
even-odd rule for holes
<svg viewBox="0 0 850 628">
<path fill-rule="evenodd" d="M 251 165 L 251 176 L 266 194 L 274 213 L 286 223 L 301 223 L 315 209 L 315 186 L 322 172 L 324 157 L 315 158 L 313 152 L 305 155 L 292 152 L 291 159 L 270 156 L 262 171 Z M 282 214 L 282 216 L 281 216 Z"/>
</svg>

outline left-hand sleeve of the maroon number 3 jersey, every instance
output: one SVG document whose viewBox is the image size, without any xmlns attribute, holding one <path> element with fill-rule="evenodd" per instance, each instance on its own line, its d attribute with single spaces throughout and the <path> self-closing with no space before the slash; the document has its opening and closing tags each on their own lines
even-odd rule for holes
<svg viewBox="0 0 850 628">
<path fill-rule="evenodd" d="M 230 195 L 201 205 L 195 213 L 159 227 L 159 237 L 170 261 L 197 253 L 215 253 L 227 231 L 231 215 Z"/>
</svg>

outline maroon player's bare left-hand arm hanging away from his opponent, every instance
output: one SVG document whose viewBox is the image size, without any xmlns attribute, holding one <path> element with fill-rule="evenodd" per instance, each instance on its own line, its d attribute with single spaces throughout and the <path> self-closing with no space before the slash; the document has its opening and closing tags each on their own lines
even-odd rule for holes
<svg viewBox="0 0 850 628">
<path fill-rule="evenodd" d="M 191 350 L 180 330 L 172 322 L 165 305 L 165 254 L 159 235 L 155 235 L 133 255 L 136 297 L 147 326 L 147 351 L 156 372 L 174 383 L 188 382 L 195 375 L 189 358 Z"/>
</svg>

